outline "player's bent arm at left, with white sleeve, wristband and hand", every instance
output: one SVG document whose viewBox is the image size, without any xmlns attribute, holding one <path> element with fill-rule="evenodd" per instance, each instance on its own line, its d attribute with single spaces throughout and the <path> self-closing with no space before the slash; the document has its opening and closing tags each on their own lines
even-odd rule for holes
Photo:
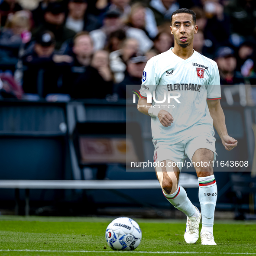
<svg viewBox="0 0 256 256">
<path fill-rule="evenodd" d="M 153 95 L 154 91 L 156 91 L 156 87 L 159 83 L 159 76 L 156 72 L 155 65 L 150 59 L 146 67 L 143 71 L 143 76 L 142 76 L 142 85 L 140 89 L 140 97 L 138 101 L 137 108 L 139 112 L 151 116 L 151 117 L 158 117 L 160 123 L 162 126 L 168 127 L 171 126 L 173 122 L 173 117 L 172 115 L 166 111 L 166 110 L 161 110 L 160 108 L 154 108 L 151 103 L 147 103 L 146 99 L 146 92 L 149 91 L 151 93 L 151 96 Z"/>
</svg>

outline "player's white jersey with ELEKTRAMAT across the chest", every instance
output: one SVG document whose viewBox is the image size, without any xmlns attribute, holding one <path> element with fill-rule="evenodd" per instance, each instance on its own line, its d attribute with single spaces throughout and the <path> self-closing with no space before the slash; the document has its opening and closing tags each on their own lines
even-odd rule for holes
<svg viewBox="0 0 256 256">
<path fill-rule="evenodd" d="M 213 119 L 211 118 L 207 99 L 217 100 L 220 94 L 220 75 L 217 63 L 194 51 L 191 57 L 182 59 L 172 52 L 172 48 L 152 57 L 143 71 L 141 96 L 146 91 L 155 92 L 157 101 L 164 100 L 165 95 L 180 97 L 162 105 L 174 121 L 164 127 L 158 117 L 151 118 L 153 141 L 162 144 L 175 144 L 191 136 L 214 136 Z M 174 108 L 168 108 L 174 107 Z M 157 106 L 156 106 L 157 107 Z"/>
</svg>

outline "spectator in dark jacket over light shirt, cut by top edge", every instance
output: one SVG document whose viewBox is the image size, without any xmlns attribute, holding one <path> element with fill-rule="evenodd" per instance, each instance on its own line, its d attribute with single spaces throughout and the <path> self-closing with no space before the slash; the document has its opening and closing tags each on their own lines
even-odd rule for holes
<svg viewBox="0 0 256 256">
<path fill-rule="evenodd" d="M 86 13 L 87 0 L 70 0 L 68 3 L 68 17 L 66 19 L 66 27 L 76 33 L 92 31 L 100 28 L 100 24 L 96 17 Z"/>
</svg>

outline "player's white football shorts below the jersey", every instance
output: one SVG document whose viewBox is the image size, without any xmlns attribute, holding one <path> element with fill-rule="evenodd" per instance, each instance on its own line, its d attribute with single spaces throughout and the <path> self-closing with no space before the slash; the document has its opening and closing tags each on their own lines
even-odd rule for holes
<svg viewBox="0 0 256 256">
<path fill-rule="evenodd" d="M 165 145 L 159 143 L 154 143 L 155 151 L 154 151 L 154 162 L 161 162 L 164 160 L 172 160 L 173 162 L 182 162 L 188 157 L 192 161 L 192 157 L 194 156 L 194 152 L 197 149 L 209 149 L 214 152 L 214 162 L 216 159 L 216 149 L 215 149 L 215 141 L 216 139 L 209 135 L 199 135 L 197 137 L 190 137 L 188 139 L 184 139 L 181 142 L 172 145 Z M 182 169 L 182 164 L 177 164 L 180 171 Z"/>
</svg>

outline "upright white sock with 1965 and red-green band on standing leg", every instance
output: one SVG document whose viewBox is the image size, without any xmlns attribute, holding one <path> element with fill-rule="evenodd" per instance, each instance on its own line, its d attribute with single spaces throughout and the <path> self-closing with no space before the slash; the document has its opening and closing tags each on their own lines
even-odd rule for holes
<svg viewBox="0 0 256 256">
<path fill-rule="evenodd" d="M 198 182 L 198 195 L 202 214 L 202 230 L 205 230 L 204 227 L 211 227 L 212 233 L 212 227 L 214 224 L 214 211 L 217 201 L 216 181 L 214 175 L 210 175 L 207 177 L 199 177 Z"/>
</svg>

